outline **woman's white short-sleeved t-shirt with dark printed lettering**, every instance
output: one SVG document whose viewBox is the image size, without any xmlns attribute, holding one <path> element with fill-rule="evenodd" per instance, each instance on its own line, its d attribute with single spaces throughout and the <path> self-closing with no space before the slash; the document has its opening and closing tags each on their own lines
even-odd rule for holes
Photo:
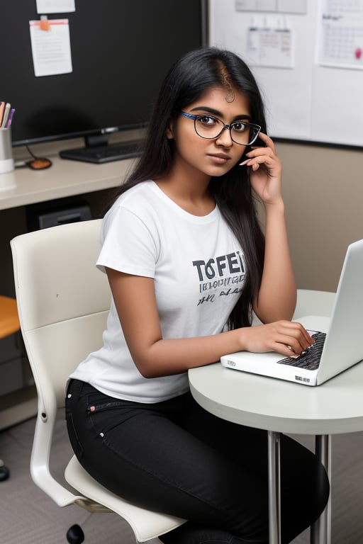
<svg viewBox="0 0 363 544">
<path fill-rule="evenodd" d="M 218 207 L 191 215 L 153 181 L 121 195 L 101 229 L 97 266 L 154 278 L 164 339 L 217 334 L 240 296 L 245 259 Z M 143 334 L 140 331 L 140 334 Z M 198 362 L 198 361 L 196 361 Z M 188 375 L 143 378 L 130 356 L 111 302 L 104 345 L 71 378 L 136 402 L 161 402 L 189 389 Z"/>
</svg>

